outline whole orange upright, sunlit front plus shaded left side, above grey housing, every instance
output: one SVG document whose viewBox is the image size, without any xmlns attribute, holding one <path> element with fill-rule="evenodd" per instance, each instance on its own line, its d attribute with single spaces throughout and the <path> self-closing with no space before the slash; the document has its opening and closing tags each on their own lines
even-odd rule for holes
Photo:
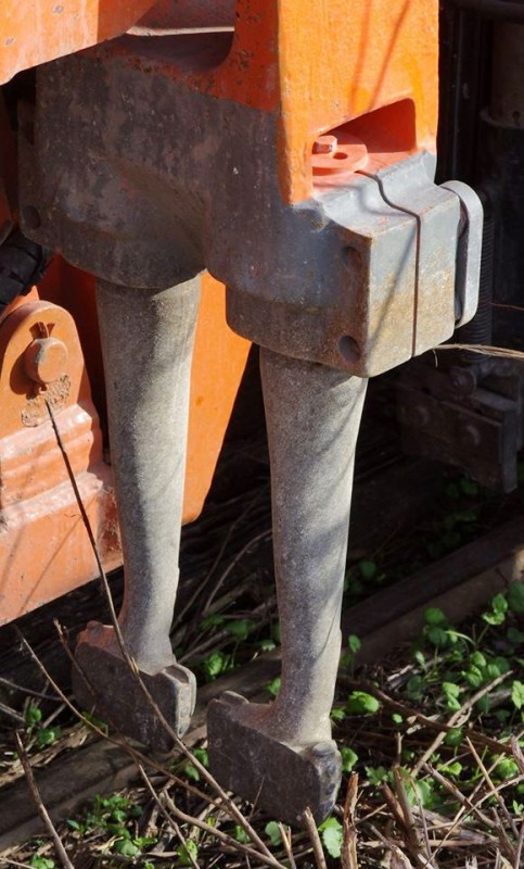
<svg viewBox="0 0 524 869">
<path fill-rule="evenodd" d="M 322 133 L 411 101 L 417 148 L 435 146 L 438 0 L 238 0 L 228 56 L 194 87 L 279 115 L 282 194 L 311 192 Z M 404 113 L 398 123 L 404 125 Z"/>
</svg>

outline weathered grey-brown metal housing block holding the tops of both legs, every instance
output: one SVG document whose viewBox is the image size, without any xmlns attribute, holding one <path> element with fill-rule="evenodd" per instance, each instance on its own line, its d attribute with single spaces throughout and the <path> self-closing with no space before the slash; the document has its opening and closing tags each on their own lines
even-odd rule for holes
<svg viewBox="0 0 524 869">
<path fill-rule="evenodd" d="M 228 286 L 235 331 L 348 374 L 449 338 L 459 200 L 431 181 L 423 153 L 410 155 L 414 130 L 393 156 L 373 133 L 367 169 L 317 179 L 314 197 L 287 204 L 278 118 L 191 87 L 228 50 L 223 34 L 128 37 L 42 71 L 36 144 L 22 149 L 26 231 L 135 287 L 206 266 Z"/>
</svg>

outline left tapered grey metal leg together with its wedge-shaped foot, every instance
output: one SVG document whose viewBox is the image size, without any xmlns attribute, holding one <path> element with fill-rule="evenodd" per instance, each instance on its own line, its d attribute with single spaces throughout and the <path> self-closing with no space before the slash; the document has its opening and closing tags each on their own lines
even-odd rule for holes
<svg viewBox="0 0 524 869">
<path fill-rule="evenodd" d="M 179 734 L 189 726 L 195 697 L 194 677 L 176 664 L 169 630 L 199 287 L 197 278 L 162 291 L 101 281 L 97 291 L 126 582 L 118 622 L 141 678 Z M 76 657 L 102 716 L 107 710 L 141 742 L 170 747 L 172 740 L 124 659 L 113 628 L 88 625 Z M 75 693 L 93 705 L 78 677 Z"/>
</svg>

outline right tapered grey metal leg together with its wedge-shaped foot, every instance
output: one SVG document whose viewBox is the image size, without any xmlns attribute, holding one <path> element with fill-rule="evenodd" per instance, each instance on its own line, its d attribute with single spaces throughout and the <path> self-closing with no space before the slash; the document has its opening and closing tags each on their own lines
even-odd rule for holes
<svg viewBox="0 0 524 869">
<path fill-rule="evenodd" d="M 271 705 L 235 694 L 208 711 L 210 765 L 221 783 L 274 817 L 331 810 L 341 764 L 330 711 L 355 445 L 367 381 L 261 351 L 271 457 L 282 687 Z"/>
</svg>

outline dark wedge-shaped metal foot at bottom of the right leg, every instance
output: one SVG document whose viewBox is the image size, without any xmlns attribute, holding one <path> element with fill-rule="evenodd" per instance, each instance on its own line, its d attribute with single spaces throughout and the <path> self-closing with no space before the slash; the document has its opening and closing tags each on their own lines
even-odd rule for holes
<svg viewBox="0 0 524 869">
<path fill-rule="evenodd" d="M 264 727 L 267 710 L 230 691 L 212 701 L 207 710 L 210 771 L 223 788 L 274 818 L 301 826 L 309 807 L 320 823 L 334 806 L 341 781 L 336 744 L 333 740 L 307 746 L 280 742 L 257 728 L 258 721 Z"/>
</svg>

